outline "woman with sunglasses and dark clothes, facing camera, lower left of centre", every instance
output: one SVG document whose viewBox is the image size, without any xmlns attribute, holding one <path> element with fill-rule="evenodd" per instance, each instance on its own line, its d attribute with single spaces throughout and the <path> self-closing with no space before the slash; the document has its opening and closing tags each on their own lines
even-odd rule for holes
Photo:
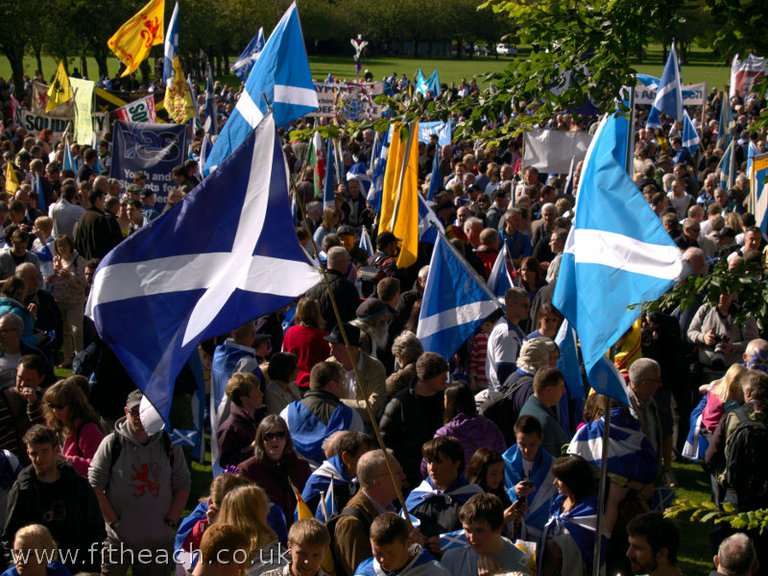
<svg viewBox="0 0 768 576">
<path fill-rule="evenodd" d="M 238 474 L 261 486 L 269 500 L 285 513 L 290 525 L 296 509 L 293 486 L 301 492 L 309 478 L 309 464 L 296 454 L 285 420 L 271 414 L 256 430 L 255 454 L 237 467 Z"/>
</svg>

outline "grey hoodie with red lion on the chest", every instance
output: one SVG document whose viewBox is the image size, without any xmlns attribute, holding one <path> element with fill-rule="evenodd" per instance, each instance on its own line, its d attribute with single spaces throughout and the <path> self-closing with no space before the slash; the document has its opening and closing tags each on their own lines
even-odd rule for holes
<svg viewBox="0 0 768 576">
<path fill-rule="evenodd" d="M 112 466 L 112 437 L 120 437 L 120 455 Z M 115 431 L 99 445 L 88 469 L 94 490 L 106 490 L 107 498 L 120 522 L 117 533 L 107 527 L 107 535 L 130 546 L 166 546 L 173 538 L 164 518 L 173 495 L 189 490 L 189 469 L 180 446 L 173 446 L 173 470 L 166 453 L 162 432 L 140 444 L 126 418 L 115 423 Z"/>
</svg>

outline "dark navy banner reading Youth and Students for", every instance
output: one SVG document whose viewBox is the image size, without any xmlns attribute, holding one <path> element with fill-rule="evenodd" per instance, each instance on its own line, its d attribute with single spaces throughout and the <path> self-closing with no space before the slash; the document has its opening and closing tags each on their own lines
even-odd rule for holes
<svg viewBox="0 0 768 576">
<path fill-rule="evenodd" d="M 186 126 L 115 122 L 112 137 L 112 171 L 123 189 L 132 183 L 135 172 L 147 175 L 147 188 L 157 196 L 156 208 L 162 210 L 168 192 L 176 186 L 171 170 L 186 160 Z"/>
</svg>

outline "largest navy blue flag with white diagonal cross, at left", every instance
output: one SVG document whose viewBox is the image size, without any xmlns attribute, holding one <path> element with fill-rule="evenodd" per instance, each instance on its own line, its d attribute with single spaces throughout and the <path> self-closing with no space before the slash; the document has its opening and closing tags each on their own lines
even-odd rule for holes
<svg viewBox="0 0 768 576">
<path fill-rule="evenodd" d="M 173 382 L 201 340 L 290 304 L 319 279 L 293 233 L 267 115 L 178 209 L 104 258 L 87 313 L 167 420 Z"/>
</svg>

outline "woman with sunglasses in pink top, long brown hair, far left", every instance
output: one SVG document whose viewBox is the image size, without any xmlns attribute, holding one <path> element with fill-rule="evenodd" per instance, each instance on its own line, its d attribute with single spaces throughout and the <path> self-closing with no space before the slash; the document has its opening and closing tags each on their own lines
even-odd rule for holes
<svg viewBox="0 0 768 576">
<path fill-rule="evenodd" d="M 43 411 L 48 426 L 62 440 L 62 454 L 75 471 L 88 477 L 88 466 L 104 439 L 100 418 L 83 392 L 82 376 L 59 380 L 43 396 Z"/>
</svg>

